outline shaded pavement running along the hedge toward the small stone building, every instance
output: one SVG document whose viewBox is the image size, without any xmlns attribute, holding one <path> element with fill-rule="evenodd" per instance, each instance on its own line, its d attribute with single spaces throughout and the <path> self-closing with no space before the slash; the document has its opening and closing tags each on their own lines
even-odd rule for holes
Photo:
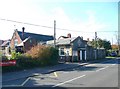
<svg viewBox="0 0 120 89">
<path fill-rule="evenodd" d="M 96 62 L 96 61 L 92 61 L 92 62 Z M 50 66 L 50 67 L 34 68 L 34 69 L 29 69 L 29 70 L 17 71 L 17 72 L 3 73 L 2 74 L 2 81 L 0 81 L 0 82 L 6 82 L 6 81 L 8 82 L 8 81 L 11 81 L 11 80 L 28 78 L 28 77 L 34 76 L 36 73 L 39 73 L 39 74 L 52 73 L 52 72 L 60 71 L 60 70 L 64 70 L 64 69 L 75 68 L 75 67 L 78 67 L 78 66 L 84 66 L 84 65 L 87 65 L 89 63 L 91 63 L 91 62 L 86 62 L 86 63 L 60 63 L 58 65 Z"/>
</svg>

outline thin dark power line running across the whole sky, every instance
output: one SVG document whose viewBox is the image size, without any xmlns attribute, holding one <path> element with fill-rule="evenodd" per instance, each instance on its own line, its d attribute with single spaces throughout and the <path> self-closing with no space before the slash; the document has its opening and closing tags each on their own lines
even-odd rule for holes
<svg viewBox="0 0 120 89">
<path fill-rule="evenodd" d="M 3 19 L 0 18 L 2 21 L 8 21 L 8 22 L 14 22 L 14 23 L 20 23 L 20 24 L 26 24 L 26 25 L 32 25 L 32 26 L 39 26 L 39 27 L 44 27 L 44 28 L 50 28 L 53 29 L 54 27 L 50 26 L 43 26 L 43 25 L 38 25 L 38 24 L 32 24 L 32 23 L 26 23 L 26 22 L 21 22 L 21 21 L 15 21 L 15 20 L 10 20 L 10 19 Z M 72 31 L 72 32 L 83 32 L 83 33 L 94 33 L 94 32 L 85 32 L 85 31 L 78 31 L 78 30 L 72 30 L 72 29 L 64 29 L 64 28 L 56 28 L 58 30 L 64 30 L 64 31 Z M 97 31 L 97 32 L 118 32 L 118 31 Z"/>
</svg>

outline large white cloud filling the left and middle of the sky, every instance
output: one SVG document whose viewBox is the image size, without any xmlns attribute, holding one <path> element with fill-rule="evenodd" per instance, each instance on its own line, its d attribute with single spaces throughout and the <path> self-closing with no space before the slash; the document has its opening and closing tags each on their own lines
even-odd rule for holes
<svg viewBox="0 0 120 89">
<path fill-rule="evenodd" d="M 96 16 L 96 12 L 92 10 L 86 11 L 85 14 L 88 16 L 87 20 L 83 21 L 81 20 L 82 17 L 79 16 L 77 19 L 78 21 L 75 22 L 73 21 L 73 18 L 67 14 L 64 8 L 57 6 L 49 10 L 45 10 L 42 7 L 42 4 L 43 3 L 39 3 L 38 5 L 37 1 L 30 2 L 29 0 L 2 0 L 2 2 L 0 0 L 0 17 L 50 27 L 53 27 L 53 21 L 56 20 L 57 28 L 69 29 L 69 31 L 57 29 L 57 38 L 61 35 L 66 36 L 68 33 L 71 33 L 72 37 L 83 36 L 84 39 L 92 39 L 94 38 L 95 31 L 104 30 L 109 26 L 109 24 L 100 23 Z M 0 30 L 0 38 L 2 39 L 11 38 L 15 28 L 14 25 L 16 25 L 16 28 L 19 30 L 21 30 L 22 26 L 25 26 L 25 31 L 39 34 L 53 35 L 54 31 L 54 29 L 11 22 L 0 21 L 0 24 L 0 29 L 2 29 Z"/>
</svg>

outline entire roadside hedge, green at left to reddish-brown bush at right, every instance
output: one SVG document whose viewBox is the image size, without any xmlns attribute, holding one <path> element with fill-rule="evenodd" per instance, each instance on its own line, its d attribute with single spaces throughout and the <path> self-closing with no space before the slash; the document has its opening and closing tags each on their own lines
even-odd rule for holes
<svg viewBox="0 0 120 89">
<path fill-rule="evenodd" d="M 58 63 L 58 50 L 48 46 L 35 46 L 27 53 L 12 53 L 11 60 L 16 60 L 15 66 L 2 67 L 3 72 L 23 70 L 35 67 L 51 66 Z"/>
</svg>

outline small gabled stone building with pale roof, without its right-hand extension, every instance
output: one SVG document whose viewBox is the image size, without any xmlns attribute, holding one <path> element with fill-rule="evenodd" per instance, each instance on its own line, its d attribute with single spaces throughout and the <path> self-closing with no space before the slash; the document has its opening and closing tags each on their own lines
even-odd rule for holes
<svg viewBox="0 0 120 89">
<path fill-rule="evenodd" d="M 54 41 L 47 41 L 47 44 L 52 46 Z M 80 61 L 86 60 L 86 46 L 87 44 L 82 37 L 67 37 L 61 36 L 56 40 L 56 46 L 59 49 L 60 60 L 65 61 Z"/>
</svg>

